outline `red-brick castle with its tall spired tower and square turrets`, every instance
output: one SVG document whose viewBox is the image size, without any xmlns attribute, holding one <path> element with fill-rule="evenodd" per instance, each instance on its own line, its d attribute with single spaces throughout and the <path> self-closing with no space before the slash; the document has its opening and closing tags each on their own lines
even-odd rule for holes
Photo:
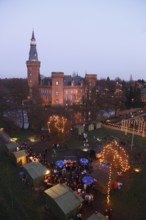
<svg viewBox="0 0 146 220">
<path fill-rule="evenodd" d="M 90 94 L 91 88 L 96 85 L 96 74 L 85 74 L 83 78 L 75 74 L 65 75 L 63 72 L 52 72 L 50 77 L 42 78 L 40 64 L 33 31 L 29 59 L 26 61 L 29 97 L 33 99 L 34 93 L 38 91 L 44 105 L 81 104 L 83 97 L 87 94 L 87 85 L 88 94 Z"/>
</svg>

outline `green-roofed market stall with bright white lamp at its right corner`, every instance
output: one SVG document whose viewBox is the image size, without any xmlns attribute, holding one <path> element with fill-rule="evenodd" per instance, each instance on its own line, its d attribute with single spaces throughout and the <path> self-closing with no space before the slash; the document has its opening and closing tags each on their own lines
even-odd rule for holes
<svg viewBox="0 0 146 220">
<path fill-rule="evenodd" d="M 50 173 L 40 162 L 27 163 L 23 165 L 23 168 L 27 176 L 27 181 L 34 189 L 39 189 L 43 185 L 45 177 Z"/>
</svg>

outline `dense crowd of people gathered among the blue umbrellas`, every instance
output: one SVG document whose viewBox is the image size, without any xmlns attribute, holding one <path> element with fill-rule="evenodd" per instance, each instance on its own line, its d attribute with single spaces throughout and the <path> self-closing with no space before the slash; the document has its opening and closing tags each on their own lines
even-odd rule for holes
<svg viewBox="0 0 146 220">
<path fill-rule="evenodd" d="M 64 161 L 63 166 L 51 167 L 51 175 L 46 177 L 44 185 L 46 188 L 57 183 L 64 183 L 74 192 L 80 195 L 85 204 L 89 204 L 94 200 L 94 183 L 86 184 L 83 182 L 83 177 L 88 174 L 89 164 L 82 165 L 78 161 Z"/>
</svg>

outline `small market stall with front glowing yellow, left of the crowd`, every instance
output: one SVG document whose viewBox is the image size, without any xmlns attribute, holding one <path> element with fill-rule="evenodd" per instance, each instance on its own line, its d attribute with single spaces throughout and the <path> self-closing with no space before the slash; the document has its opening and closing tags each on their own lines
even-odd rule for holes
<svg viewBox="0 0 146 220">
<path fill-rule="evenodd" d="M 27 163 L 27 153 L 25 150 L 19 150 L 13 152 L 14 160 L 18 165 L 24 165 Z"/>
</svg>

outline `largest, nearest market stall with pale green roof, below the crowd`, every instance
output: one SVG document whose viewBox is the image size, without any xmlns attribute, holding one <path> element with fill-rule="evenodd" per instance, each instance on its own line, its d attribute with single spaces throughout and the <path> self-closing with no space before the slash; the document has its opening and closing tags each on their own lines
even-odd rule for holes
<svg viewBox="0 0 146 220">
<path fill-rule="evenodd" d="M 83 199 L 65 184 L 44 191 L 46 206 L 57 219 L 69 220 L 80 210 Z"/>
</svg>

